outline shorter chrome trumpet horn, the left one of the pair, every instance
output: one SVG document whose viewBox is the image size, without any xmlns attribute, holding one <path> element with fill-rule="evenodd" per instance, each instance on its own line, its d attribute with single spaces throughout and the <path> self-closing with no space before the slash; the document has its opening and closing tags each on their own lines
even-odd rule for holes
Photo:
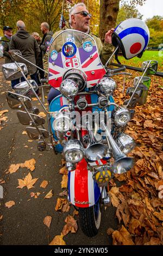
<svg viewBox="0 0 163 256">
<path fill-rule="evenodd" d="M 86 121 L 86 130 L 90 136 L 90 144 L 85 150 L 86 159 L 93 162 L 99 159 L 103 159 L 103 157 L 107 154 L 108 149 L 102 143 L 97 142 L 93 132 L 91 131 L 89 121 Z"/>
</svg>

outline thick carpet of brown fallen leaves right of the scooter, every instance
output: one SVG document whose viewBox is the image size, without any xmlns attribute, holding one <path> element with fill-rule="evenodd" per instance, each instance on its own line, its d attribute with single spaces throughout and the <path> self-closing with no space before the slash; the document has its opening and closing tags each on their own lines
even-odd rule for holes
<svg viewBox="0 0 163 256">
<path fill-rule="evenodd" d="M 154 81 L 156 79 L 153 77 Z M 127 133 L 139 144 L 130 153 L 136 159 L 135 167 L 127 174 L 116 175 L 116 179 L 125 184 L 112 186 L 109 192 L 111 203 L 117 208 L 116 217 L 119 223 L 124 224 L 120 230 L 108 229 L 113 245 L 163 244 L 163 193 L 159 194 L 163 189 L 162 90 L 155 86 L 154 81 L 147 103 L 136 107 L 135 117 L 127 127 Z M 122 103 L 126 96 L 121 94 L 119 83 L 117 90 L 120 98 L 116 100 Z M 127 86 L 132 86 L 130 81 Z"/>
</svg>

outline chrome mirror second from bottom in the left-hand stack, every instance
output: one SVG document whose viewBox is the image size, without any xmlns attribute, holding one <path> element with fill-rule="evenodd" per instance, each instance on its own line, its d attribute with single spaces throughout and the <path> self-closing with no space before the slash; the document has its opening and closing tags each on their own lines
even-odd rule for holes
<svg viewBox="0 0 163 256">
<path fill-rule="evenodd" d="M 31 114 L 30 116 L 35 122 L 35 125 L 43 125 L 45 124 L 45 119 L 40 117 L 39 115 L 36 114 Z M 32 124 L 32 119 L 29 117 L 27 112 L 24 111 L 17 111 L 17 118 L 20 121 L 21 124 L 23 125 L 31 125 Z"/>
</svg>

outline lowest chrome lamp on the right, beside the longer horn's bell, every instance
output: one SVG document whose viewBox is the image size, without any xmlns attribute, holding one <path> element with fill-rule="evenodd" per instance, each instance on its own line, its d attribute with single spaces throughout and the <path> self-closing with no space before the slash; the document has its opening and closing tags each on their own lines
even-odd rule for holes
<svg viewBox="0 0 163 256">
<path fill-rule="evenodd" d="M 125 133 L 121 133 L 117 137 L 117 144 L 122 152 L 126 155 L 130 153 L 136 146 L 134 139 Z"/>
</svg>

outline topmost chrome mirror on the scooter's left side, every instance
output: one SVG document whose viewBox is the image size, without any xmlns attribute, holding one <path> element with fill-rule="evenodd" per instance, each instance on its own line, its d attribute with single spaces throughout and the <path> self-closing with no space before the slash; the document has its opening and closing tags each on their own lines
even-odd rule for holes
<svg viewBox="0 0 163 256">
<path fill-rule="evenodd" d="M 27 66 L 24 63 L 18 63 L 20 65 L 24 75 L 28 74 Z M 20 70 L 15 63 L 8 63 L 2 65 L 2 72 L 6 80 L 15 80 L 22 77 Z"/>
</svg>

